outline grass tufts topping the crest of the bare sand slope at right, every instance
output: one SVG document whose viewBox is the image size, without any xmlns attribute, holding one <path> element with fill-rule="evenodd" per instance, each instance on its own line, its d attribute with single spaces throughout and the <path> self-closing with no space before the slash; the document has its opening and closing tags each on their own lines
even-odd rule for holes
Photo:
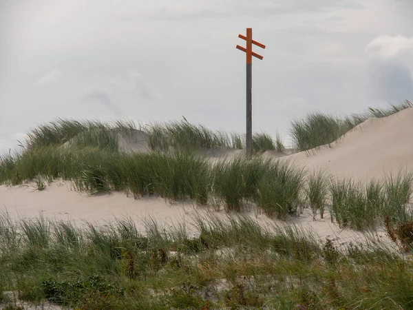
<svg viewBox="0 0 413 310">
<path fill-rule="evenodd" d="M 329 145 L 337 141 L 343 134 L 346 134 L 346 132 L 349 132 L 368 118 L 390 116 L 408 107 L 413 107 L 413 105 L 410 101 L 405 101 L 399 105 L 390 105 L 387 109 L 374 109 L 370 107 L 368 111 L 362 114 L 346 117 L 314 112 L 304 118 L 292 121 L 290 136 L 295 149 L 299 152 L 307 151 L 308 149 Z"/>
</svg>

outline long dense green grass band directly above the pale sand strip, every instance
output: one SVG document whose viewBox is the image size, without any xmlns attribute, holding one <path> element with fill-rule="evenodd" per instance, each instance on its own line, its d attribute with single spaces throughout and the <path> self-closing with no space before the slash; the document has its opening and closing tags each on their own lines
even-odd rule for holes
<svg viewBox="0 0 413 310">
<path fill-rule="evenodd" d="M 211 165 L 206 158 L 187 152 L 130 155 L 98 148 L 45 147 L 8 157 L 0 167 L 5 171 L 0 183 L 11 185 L 63 178 L 89 194 L 124 191 L 136 198 L 158 194 L 171 200 L 193 199 L 201 205 L 212 196 L 228 211 L 241 211 L 251 201 L 279 217 L 295 213 L 293 205 L 301 190 L 301 173 L 288 163 L 240 157 Z M 278 205 L 286 211 L 276 211 Z"/>
</svg>

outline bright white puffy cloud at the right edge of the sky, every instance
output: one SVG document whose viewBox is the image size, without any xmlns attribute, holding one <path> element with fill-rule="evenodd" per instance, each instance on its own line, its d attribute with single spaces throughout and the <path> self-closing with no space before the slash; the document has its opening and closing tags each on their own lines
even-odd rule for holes
<svg viewBox="0 0 413 310">
<path fill-rule="evenodd" d="M 381 35 L 366 46 L 368 54 L 382 58 L 391 58 L 409 50 L 413 50 L 413 37 L 406 38 L 401 35 L 395 37 Z"/>
</svg>

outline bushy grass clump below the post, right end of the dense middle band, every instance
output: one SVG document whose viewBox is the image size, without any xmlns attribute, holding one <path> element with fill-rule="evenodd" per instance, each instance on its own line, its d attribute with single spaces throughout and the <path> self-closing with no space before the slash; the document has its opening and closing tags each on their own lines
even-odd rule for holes
<svg viewBox="0 0 413 310">
<path fill-rule="evenodd" d="M 295 214 L 304 171 L 289 162 L 236 158 L 213 168 L 213 193 L 229 211 L 242 211 L 254 202 L 268 216 L 285 218 Z"/>
</svg>

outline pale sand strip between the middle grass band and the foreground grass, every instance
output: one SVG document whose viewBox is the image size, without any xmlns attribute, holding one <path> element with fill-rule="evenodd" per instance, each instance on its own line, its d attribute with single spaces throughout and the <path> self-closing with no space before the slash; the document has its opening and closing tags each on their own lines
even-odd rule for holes
<svg viewBox="0 0 413 310">
<path fill-rule="evenodd" d="M 187 223 L 187 230 L 192 236 L 198 234 L 192 225 L 193 216 L 215 216 L 226 218 L 227 214 L 221 208 L 215 211 L 213 207 L 197 207 L 191 202 L 168 203 L 162 198 L 145 197 L 134 199 L 121 192 L 100 196 L 88 196 L 75 192 L 70 183 L 52 183 L 45 190 L 39 192 L 34 185 L 18 187 L 0 187 L 0 212 L 7 212 L 13 220 L 24 218 L 26 220 L 43 216 L 50 220 L 71 220 L 76 225 L 82 226 L 85 222 L 105 225 L 115 218 L 130 217 L 136 223 L 138 229 L 145 233 L 145 220 L 153 218 L 161 228 L 173 229 L 178 223 Z M 254 208 L 253 208 L 254 209 Z M 246 216 L 257 220 L 263 227 L 266 223 L 274 221 L 279 225 L 294 223 L 303 229 L 315 232 L 321 240 L 336 240 L 338 245 L 348 245 L 355 240 L 363 240 L 366 235 L 351 229 L 339 229 L 338 225 L 331 223 L 328 211 L 325 218 L 313 220 L 309 209 L 304 209 L 303 214 L 291 217 L 285 222 L 270 220 L 264 214 L 256 211 L 248 211 Z M 374 238 L 386 239 L 385 233 L 380 229 L 374 232 Z"/>
</svg>

